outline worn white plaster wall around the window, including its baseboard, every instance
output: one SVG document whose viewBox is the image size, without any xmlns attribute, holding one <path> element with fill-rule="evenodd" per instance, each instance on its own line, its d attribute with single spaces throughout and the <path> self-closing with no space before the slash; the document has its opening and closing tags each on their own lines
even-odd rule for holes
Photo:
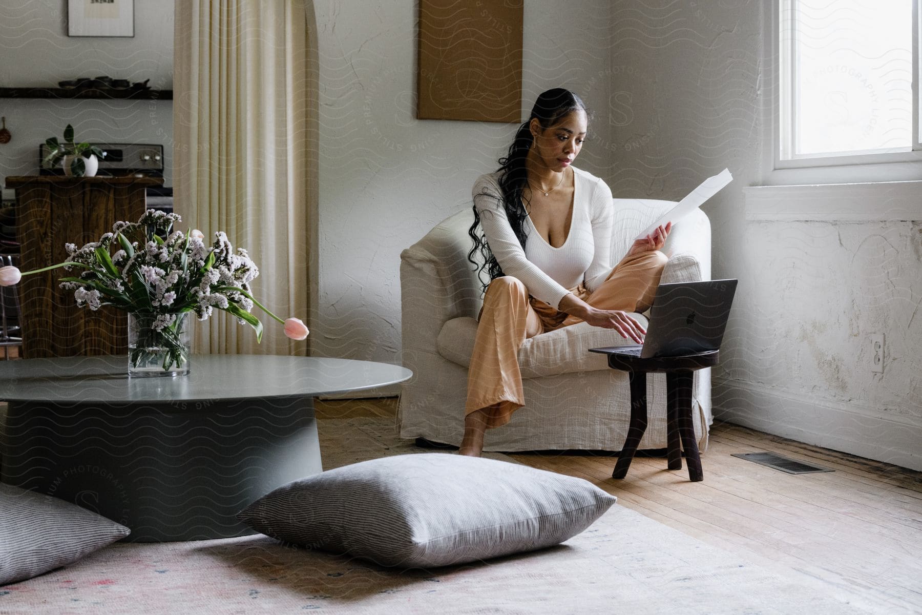
<svg viewBox="0 0 922 615">
<path fill-rule="evenodd" d="M 922 469 L 922 227 L 745 218 L 742 188 L 766 179 L 762 10 L 614 3 L 612 191 L 675 199 L 733 171 L 703 207 L 714 277 L 739 278 L 715 369 L 718 420 Z M 865 363 L 872 333 L 886 335 L 882 375 Z"/>
</svg>

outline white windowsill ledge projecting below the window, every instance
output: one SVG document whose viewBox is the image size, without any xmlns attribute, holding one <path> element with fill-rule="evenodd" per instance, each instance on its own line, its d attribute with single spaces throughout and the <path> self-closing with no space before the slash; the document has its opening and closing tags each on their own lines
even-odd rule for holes
<svg viewBox="0 0 922 615">
<path fill-rule="evenodd" d="M 922 181 L 763 185 L 743 195 L 747 220 L 922 220 Z"/>
</svg>

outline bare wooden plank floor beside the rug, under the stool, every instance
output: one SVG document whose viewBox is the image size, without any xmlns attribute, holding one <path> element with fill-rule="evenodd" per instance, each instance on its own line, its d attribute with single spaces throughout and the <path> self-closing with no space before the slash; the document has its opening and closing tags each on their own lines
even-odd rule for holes
<svg viewBox="0 0 922 615">
<path fill-rule="evenodd" d="M 390 417 L 395 398 L 316 403 L 319 419 Z M 731 453 L 772 451 L 834 472 L 790 475 Z M 635 457 L 626 479 L 616 457 L 514 454 L 531 467 L 587 479 L 619 503 L 667 526 L 766 565 L 810 574 L 875 604 L 922 612 L 922 472 L 715 423 L 703 482 Z"/>
</svg>

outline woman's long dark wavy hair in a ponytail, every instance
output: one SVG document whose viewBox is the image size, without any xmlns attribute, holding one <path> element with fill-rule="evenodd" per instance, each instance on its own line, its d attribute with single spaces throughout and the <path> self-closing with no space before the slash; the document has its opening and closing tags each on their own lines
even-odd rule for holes
<svg viewBox="0 0 922 615">
<path fill-rule="evenodd" d="M 522 244 L 523 249 L 525 249 L 527 236 L 525 219 L 528 216 L 526 202 L 522 198 L 522 192 L 525 190 L 528 181 L 525 160 L 528 149 L 531 148 L 532 141 L 534 141 L 529 124 L 531 124 L 532 119 L 537 118 L 541 127 L 550 128 L 550 126 L 560 122 L 568 113 L 574 111 L 586 112 L 586 108 L 582 99 L 569 89 L 554 88 L 541 92 L 538 100 L 535 101 L 535 106 L 531 108 L 531 114 L 528 116 L 526 123 L 519 126 L 516 131 L 513 144 L 509 146 L 509 153 L 505 158 L 499 160 L 502 207 L 505 209 L 509 225 L 513 228 L 515 237 Z M 484 193 L 481 193 L 481 195 L 484 195 Z M 527 205 L 530 206 L 531 204 L 528 203 Z M 467 234 L 470 235 L 474 242 L 474 247 L 467 253 L 467 260 L 476 267 L 478 262 L 474 259 L 475 254 L 479 252 L 483 256 L 484 263 L 479 267 L 478 276 L 483 270 L 487 271 L 490 278 L 486 281 L 480 278 L 483 290 L 487 290 L 490 282 L 503 274 L 502 268 L 496 262 L 496 257 L 491 252 L 487 238 L 480 228 L 480 215 L 477 207 L 474 207 L 474 223 L 468 229 Z"/>
</svg>

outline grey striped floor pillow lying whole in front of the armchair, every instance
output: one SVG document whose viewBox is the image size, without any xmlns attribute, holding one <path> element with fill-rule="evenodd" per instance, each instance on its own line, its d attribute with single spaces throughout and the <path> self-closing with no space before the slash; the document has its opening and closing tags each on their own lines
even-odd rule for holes
<svg viewBox="0 0 922 615">
<path fill-rule="evenodd" d="M 559 544 L 615 501 L 584 479 L 431 453 L 372 459 L 290 482 L 237 518 L 310 549 L 384 566 L 431 567 Z"/>
</svg>

